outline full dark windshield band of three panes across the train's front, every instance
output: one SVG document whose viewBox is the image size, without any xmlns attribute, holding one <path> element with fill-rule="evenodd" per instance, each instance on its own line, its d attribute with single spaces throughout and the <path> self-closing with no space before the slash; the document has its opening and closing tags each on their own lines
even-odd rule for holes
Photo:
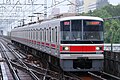
<svg viewBox="0 0 120 80">
<path fill-rule="evenodd" d="M 77 44 L 83 41 L 103 41 L 103 21 L 66 20 L 60 22 L 61 43 Z"/>
</svg>

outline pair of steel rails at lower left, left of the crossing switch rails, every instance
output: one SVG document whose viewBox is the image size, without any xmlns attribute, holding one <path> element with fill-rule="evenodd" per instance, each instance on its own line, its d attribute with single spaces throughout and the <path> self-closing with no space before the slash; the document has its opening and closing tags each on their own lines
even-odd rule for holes
<svg viewBox="0 0 120 80">
<path fill-rule="evenodd" d="M 2 46 L 1 49 L 4 51 L 3 56 L 4 56 L 4 58 L 5 58 L 6 61 L 7 61 L 7 64 L 8 64 L 8 66 L 9 66 L 9 69 L 10 69 L 10 72 L 11 72 L 13 78 L 14 78 L 15 80 L 21 80 L 20 77 L 19 77 L 19 75 L 17 74 L 18 71 L 16 70 L 15 66 L 13 65 L 13 60 L 10 59 L 10 57 L 9 57 L 9 55 L 8 55 L 7 53 L 5 53 L 5 52 L 7 52 L 7 51 L 11 52 L 10 48 L 8 48 L 8 46 L 6 46 L 6 44 L 5 44 L 4 42 L 2 42 L 2 41 L 1 41 L 0 44 L 1 44 L 1 46 Z M 13 52 L 11 52 L 11 53 L 13 53 Z M 22 63 L 21 59 L 19 59 L 15 54 L 13 54 L 13 55 L 15 56 L 15 59 L 18 59 L 18 60 L 21 62 L 22 66 L 23 66 L 24 63 Z M 24 66 L 25 66 L 25 65 L 24 65 Z M 26 69 L 28 69 L 27 66 L 26 66 Z M 37 77 L 34 75 L 34 73 L 32 73 L 29 69 L 28 69 L 28 71 L 30 72 L 30 75 L 32 76 L 33 79 L 39 80 L 39 79 L 37 79 Z"/>
</svg>

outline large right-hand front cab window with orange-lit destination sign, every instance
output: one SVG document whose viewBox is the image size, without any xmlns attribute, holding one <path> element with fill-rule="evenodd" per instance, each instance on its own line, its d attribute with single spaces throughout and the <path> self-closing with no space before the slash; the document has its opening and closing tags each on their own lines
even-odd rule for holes
<svg viewBox="0 0 120 80">
<path fill-rule="evenodd" d="M 103 22 L 97 20 L 83 21 L 84 40 L 103 40 Z"/>
</svg>

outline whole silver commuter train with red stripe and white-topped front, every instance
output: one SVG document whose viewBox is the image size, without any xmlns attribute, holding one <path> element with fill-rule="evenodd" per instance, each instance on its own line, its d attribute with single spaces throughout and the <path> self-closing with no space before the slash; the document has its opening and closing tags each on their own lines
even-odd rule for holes
<svg viewBox="0 0 120 80">
<path fill-rule="evenodd" d="M 12 42 L 64 71 L 103 68 L 103 19 L 69 16 L 26 24 L 11 31 Z"/>
</svg>

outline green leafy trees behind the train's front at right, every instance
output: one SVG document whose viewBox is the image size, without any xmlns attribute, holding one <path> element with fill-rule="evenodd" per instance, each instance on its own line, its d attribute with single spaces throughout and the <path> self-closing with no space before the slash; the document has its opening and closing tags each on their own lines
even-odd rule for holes
<svg viewBox="0 0 120 80">
<path fill-rule="evenodd" d="M 117 6 L 109 4 L 101 9 L 82 13 L 81 15 L 97 16 L 101 18 L 120 16 L 120 4 Z M 104 22 L 104 34 L 105 43 L 120 43 L 120 19 L 106 20 Z"/>
</svg>

